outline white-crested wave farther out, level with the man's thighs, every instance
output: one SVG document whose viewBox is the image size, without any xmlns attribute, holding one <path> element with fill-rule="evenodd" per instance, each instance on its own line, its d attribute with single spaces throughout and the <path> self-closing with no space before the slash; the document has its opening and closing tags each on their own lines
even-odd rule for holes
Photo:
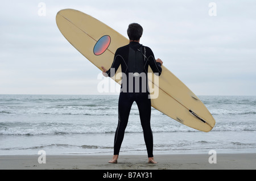
<svg viewBox="0 0 256 181">
<path fill-rule="evenodd" d="M 241 108 L 240 110 L 230 108 L 208 108 L 212 115 L 255 115 L 255 107 Z M 118 106 L 112 105 L 58 105 L 58 106 L 7 106 L 0 108 L 0 115 L 118 115 Z M 163 113 L 152 108 L 152 115 L 163 115 Z M 138 115 L 138 108 L 132 107 L 131 114 Z"/>
</svg>

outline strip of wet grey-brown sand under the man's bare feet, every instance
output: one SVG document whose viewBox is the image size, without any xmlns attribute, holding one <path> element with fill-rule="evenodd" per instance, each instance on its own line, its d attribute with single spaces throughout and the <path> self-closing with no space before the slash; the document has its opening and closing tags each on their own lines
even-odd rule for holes
<svg viewBox="0 0 256 181">
<path fill-rule="evenodd" d="M 111 155 L 1 155 L 0 169 L 14 170 L 224 170 L 256 169 L 256 153 L 217 154 L 209 163 L 208 154 L 155 155 L 157 164 L 148 164 L 145 155 L 120 155 L 117 164 L 108 163 Z"/>
</svg>

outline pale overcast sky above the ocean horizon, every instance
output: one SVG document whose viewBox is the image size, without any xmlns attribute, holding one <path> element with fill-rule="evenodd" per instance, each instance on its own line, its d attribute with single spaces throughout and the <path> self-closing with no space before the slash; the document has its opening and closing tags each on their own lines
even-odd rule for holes
<svg viewBox="0 0 256 181">
<path fill-rule="evenodd" d="M 101 71 L 56 26 L 69 8 L 126 37 L 141 24 L 141 43 L 196 95 L 256 95 L 255 0 L 3 1 L 0 94 L 100 94 Z"/>
</svg>

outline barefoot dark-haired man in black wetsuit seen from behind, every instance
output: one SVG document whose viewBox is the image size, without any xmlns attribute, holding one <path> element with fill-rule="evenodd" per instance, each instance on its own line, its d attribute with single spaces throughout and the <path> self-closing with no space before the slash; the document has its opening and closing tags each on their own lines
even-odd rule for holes
<svg viewBox="0 0 256 181">
<path fill-rule="evenodd" d="M 122 85 L 118 101 L 118 126 L 114 137 L 114 155 L 109 163 L 117 163 L 134 101 L 139 109 L 148 163 L 157 163 L 154 161 L 153 155 L 153 135 L 150 126 L 151 100 L 148 91 L 147 72 L 148 66 L 150 66 L 154 74 L 159 76 L 162 73 L 161 66 L 163 62 L 160 59 L 155 60 L 150 48 L 139 44 L 142 33 L 143 28 L 139 24 L 131 23 L 127 30 L 130 43 L 116 50 L 113 64 L 108 71 L 103 66 L 101 67 L 103 69 L 102 74 L 105 77 L 113 77 L 120 65 L 122 69 Z"/>
</svg>

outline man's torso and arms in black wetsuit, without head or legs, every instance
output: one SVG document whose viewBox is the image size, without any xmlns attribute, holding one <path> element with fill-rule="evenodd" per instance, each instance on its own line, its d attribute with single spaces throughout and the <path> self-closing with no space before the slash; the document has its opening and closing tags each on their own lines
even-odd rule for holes
<svg viewBox="0 0 256 181">
<path fill-rule="evenodd" d="M 115 75 L 120 65 L 123 92 L 148 92 L 148 66 L 157 75 L 162 72 L 161 65 L 155 61 L 152 50 L 135 41 L 117 49 L 112 66 L 106 71 L 109 77 Z"/>
</svg>

